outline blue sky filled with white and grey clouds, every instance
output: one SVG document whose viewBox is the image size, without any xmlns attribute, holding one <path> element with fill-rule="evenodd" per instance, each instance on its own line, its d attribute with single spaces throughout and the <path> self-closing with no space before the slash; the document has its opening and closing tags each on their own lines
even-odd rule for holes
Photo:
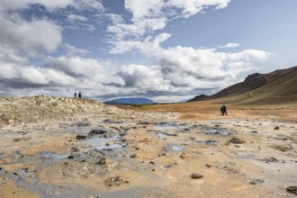
<svg viewBox="0 0 297 198">
<path fill-rule="evenodd" d="M 0 96 L 158 103 L 297 65 L 296 0 L 1 0 Z"/>
</svg>

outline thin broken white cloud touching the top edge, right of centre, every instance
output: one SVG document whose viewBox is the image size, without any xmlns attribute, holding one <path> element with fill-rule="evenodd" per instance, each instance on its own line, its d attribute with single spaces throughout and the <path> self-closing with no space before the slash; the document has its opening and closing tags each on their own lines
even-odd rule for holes
<svg viewBox="0 0 297 198">
<path fill-rule="evenodd" d="M 144 42 L 148 35 L 163 30 L 167 23 L 178 18 L 188 18 L 213 7 L 222 9 L 230 0 L 125 0 L 125 9 L 132 14 L 129 22 L 121 20 L 107 27 L 111 34 L 111 53 L 124 53 L 135 49 L 135 43 Z M 125 48 L 123 48 L 125 46 Z"/>
</svg>

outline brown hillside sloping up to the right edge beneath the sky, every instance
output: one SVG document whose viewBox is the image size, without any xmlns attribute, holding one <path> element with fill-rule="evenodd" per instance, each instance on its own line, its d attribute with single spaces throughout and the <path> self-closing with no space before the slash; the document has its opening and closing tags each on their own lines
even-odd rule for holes
<svg viewBox="0 0 297 198">
<path fill-rule="evenodd" d="M 188 102 L 215 100 L 218 103 L 270 104 L 297 102 L 297 67 L 268 74 L 255 73 L 244 82 L 231 85 L 217 94 L 197 95 Z"/>
</svg>

